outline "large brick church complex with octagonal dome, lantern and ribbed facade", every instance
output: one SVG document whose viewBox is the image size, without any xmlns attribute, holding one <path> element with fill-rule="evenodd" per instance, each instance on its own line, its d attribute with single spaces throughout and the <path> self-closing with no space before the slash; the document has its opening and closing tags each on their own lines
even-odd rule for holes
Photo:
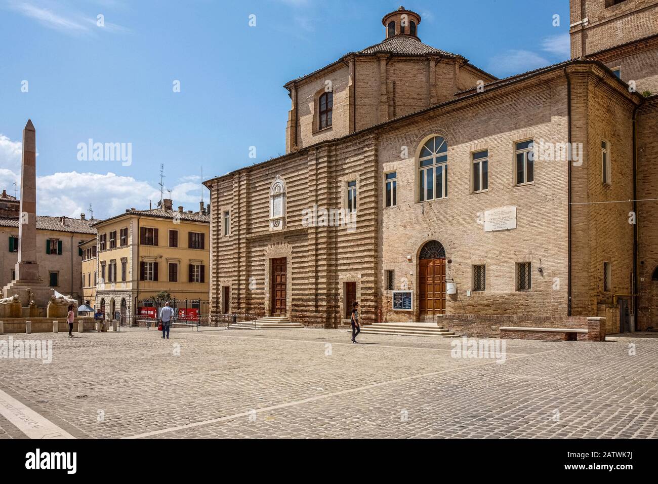
<svg viewBox="0 0 658 484">
<path fill-rule="evenodd" d="M 497 79 L 387 14 L 286 84 L 286 155 L 205 182 L 211 311 L 658 327 L 657 18 L 572 0 L 572 59 Z"/>
</svg>

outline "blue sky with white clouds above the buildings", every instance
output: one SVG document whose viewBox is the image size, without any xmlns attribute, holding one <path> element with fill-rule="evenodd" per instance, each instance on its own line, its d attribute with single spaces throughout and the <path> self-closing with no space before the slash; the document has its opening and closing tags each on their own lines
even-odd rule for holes
<svg viewBox="0 0 658 484">
<path fill-rule="evenodd" d="M 39 213 L 79 216 L 91 203 L 102 218 L 155 204 L 161 163 L 174 205 L 198 209 L 201 167 L 207 179 L 283 154 L 283 85 L 381 41 L 381 18 L 400 3 L 0 0 L 0 190 L 20 182 L 30 118 Z M 403 5 L 422 16 L 420 40 L 499 77 L 569 58 L 568 0 Z M 89 138 L 130 143 L 132 163 L 80 161 Z"/>
</svg>

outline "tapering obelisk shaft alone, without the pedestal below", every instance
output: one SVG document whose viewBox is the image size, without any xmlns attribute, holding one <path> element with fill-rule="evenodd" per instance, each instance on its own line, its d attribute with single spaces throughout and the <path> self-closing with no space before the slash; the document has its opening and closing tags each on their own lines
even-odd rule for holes
<svg viewBox="0 0 658 484">
<path fill-rule="evenodd" d="M 20 167 L 20 223 L 18 224 L 18 281 L 38 281 L 37 263 L 37 142 L 34 124 L 28 119 L 23 130 Z"/>
</svg>

